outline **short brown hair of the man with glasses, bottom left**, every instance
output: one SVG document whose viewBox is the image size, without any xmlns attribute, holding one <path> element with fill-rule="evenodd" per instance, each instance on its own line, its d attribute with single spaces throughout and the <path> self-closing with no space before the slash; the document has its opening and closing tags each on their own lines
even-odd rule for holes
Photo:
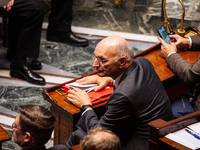
<svg viewBox="0 0 200 150">
<path fill-rule="evenodd" d="M 34 137 L 35 145 L 44 145 L 50 139 L 54 129 L 55 117 L 43 106 L 19 106 L 21 129 Z"/>
</svg>

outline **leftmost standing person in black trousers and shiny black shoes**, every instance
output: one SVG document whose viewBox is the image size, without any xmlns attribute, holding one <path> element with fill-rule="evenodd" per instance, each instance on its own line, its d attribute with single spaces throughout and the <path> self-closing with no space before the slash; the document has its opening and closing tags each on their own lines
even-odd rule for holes
<svg viewBox="0 0 200 150">
<path fill-rule="evenodd" d="M 32 84 L 45 85 L 45 79 L 32 71 L 42 67 L 37 61 L 44 18 L 42 2 L 11 0 L 4 6 L 3 13 L 8 15 L 9 21 L 6 58 L 11 60 L 10 75 Z"/>
</svg>

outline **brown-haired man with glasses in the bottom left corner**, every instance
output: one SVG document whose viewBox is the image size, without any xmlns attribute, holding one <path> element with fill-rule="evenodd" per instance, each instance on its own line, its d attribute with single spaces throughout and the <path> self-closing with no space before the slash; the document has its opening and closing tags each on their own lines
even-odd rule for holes
<svg viewBox="0 0 200 150">
<path fill-rule="evenodd" d="M 51 138 L 55 117 L 38 105 L 19 106 L 19 115 L 12 124 L 13 138 L 23 150 L 46 150 L 45 144 Z M 65 145 L 57 145 L 49 150 L 67 150 Z"/>
</svg>

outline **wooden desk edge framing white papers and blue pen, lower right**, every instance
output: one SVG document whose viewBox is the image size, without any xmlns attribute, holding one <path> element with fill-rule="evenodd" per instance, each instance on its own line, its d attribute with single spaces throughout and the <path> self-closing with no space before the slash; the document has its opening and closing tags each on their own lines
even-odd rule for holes
<svg viewBox="0 0 200 150">
<path fill-rule="evenodd" d="M 149 150 L 190 150 L 164 136 L 199 121 L 200 110 L 168 122 L 157 119 L 148 123 L 150 129 Z"/>
</svg>

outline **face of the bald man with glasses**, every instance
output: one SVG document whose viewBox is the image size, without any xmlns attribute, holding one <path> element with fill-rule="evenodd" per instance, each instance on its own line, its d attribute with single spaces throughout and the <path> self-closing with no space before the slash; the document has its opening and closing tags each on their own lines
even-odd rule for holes
<svg viewBox="0 0 200 150">
<path fill-rule="evenodd" d="M 97 45 L 94 55 L 96 59 L 93 67 L 97 69 L 99 76 L 109 76 L 115 79 L 119 75 L 120 62 L 114 46 L 105 46 L 105 44 L 100 43 Z"/>
</svg>

